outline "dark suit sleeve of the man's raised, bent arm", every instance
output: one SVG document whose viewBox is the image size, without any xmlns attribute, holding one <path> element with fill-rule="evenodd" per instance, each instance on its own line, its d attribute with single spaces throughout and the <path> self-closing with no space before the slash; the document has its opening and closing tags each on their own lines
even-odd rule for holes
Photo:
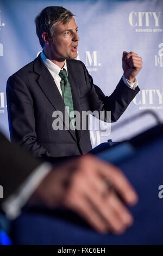
<svg viewBox="0 0 163 256">
<path fill-rule="evenodd" d="M 110 111 L 111 112 L 111 122 L 116 122 L 118 118 L 127 109 L 127 106 L 135 98 L 136 94 L 140 91 L 137 86 L 135 90 L 129 88 L 124 84 L 122 78 L 118 85 L 116 86 L 114 92 L 108 97 L 105 96 L 102 90 L 93 84 L 93 79 L 91 75 L 87 72 L 87 69 L 83 62 L 82 66 L 84 69 L 85 80 L 87 84 L 87 98 L 90 101 L 91 111 Z M 106 115 L 105 115 L 105 120 Z"/>
</svg>

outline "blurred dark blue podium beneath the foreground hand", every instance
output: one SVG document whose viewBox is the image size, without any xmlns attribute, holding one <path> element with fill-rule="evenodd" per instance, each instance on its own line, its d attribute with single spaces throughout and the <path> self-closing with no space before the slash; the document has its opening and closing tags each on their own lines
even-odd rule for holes
<svg viewBox="0 0 163 256">
<path fill-rule="evenodd" d="M 67 210 L 26 209 L 12 223 L 17 245 L 163 245 L 163 126 L 159 125 L 120 144 L 96 151 L 116 164 L 139 195 L 128 207 L 134 224 L 123 235 L 101 235 Z M 163 194 L 163 193 L 162 193 Z"/>
</svg>

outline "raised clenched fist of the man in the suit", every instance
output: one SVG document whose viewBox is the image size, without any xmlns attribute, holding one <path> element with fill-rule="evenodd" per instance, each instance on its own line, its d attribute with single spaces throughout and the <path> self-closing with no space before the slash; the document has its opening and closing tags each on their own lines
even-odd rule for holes
<svg viewBox="0 0 163 256">
<path fill-rule="evenodd" d="M 142 68 L 142 58 L 135 52 L 123 52 L 122 56 L 122 68 L 123 75 L 130 82 L 135 82 L 135 76 L 140 72 Z"/>
</svg>

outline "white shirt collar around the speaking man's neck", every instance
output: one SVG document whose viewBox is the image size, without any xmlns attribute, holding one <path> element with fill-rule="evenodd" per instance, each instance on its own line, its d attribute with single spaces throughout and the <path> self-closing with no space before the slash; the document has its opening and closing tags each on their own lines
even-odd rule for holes
<svg viewBox="0 0 163 256">
<path fill-rule="evenodd" d="M 66 72 L 67 72 L 67 63 L 66 63 L 66 60 L 65 60 L 65 65 L 64 67 L 61 69 L 59 68 L 56 64 L 54 64 L 52 61 L 50 61 L 50 59 L 48 59 L 44 52 L 42 51 L 41 52 L 41 59 L 42 61 L 45 63 L 45 66 L 54 74 L 54 76 L 57 76 L 59 75 L 59 72 L 60 70 L 62 69 L 66 69 Z M 68 74 L 67 74 L 68 75 Z"/>
</svg>

